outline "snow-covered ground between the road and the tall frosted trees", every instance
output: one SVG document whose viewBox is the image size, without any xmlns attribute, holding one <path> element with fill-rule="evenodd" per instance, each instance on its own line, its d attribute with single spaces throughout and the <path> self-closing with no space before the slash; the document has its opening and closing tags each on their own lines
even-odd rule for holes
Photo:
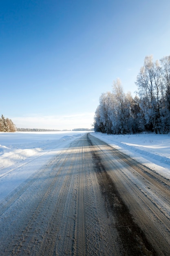
<svg viewBox="0 0 170 256">
<path fill-rule="evenodd" d="M 91 135 L 170 179 L 170 134 L 107 135 L 93 132 Z"/>
</svg>

